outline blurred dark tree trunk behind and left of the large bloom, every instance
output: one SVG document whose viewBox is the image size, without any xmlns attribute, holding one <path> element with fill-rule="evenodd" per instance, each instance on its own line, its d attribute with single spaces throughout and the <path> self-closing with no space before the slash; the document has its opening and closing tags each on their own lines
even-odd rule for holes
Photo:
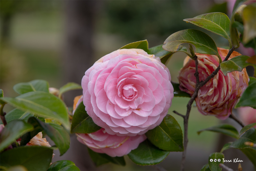
<svg viewBox="0 0 256 171">
<path fill-rule="evenodd" d="M 66 42 L 64 45 L 64 83 L 81 84 L 84 72 L 93 64 L 93 25 L 96 2 L 93 0 L 66 1 Z M 65 93 L 64 101 L 73 106 L 81 90 Z"/>
</svg>

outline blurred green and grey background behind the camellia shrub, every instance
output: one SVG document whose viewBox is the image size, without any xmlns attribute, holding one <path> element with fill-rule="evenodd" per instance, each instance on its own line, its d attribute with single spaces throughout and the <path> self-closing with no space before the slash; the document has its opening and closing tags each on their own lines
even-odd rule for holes
<svg viewBox="0 0 256 171">
<path fill-rule="evenodd" d="M 4 96 L 15 97 L 17 93 L 12 87 L 33 79 L 47 80 L 50 87 L 56 88 L 67 82 L 80 84 L 84 72 L 102 56 L 134 41 L 147 39 L 149 47 L 163 44 L 169 35 L 182 29 L 202 30 L 218 47 L 228 46 L 226 39 L 183 19 L 208 12 L 224 12 L 230 16 L 228 7 L 233 3 L 232 0 L 0 0 L 0 88 Z M 178 82 L 178 71 L 185 57 L 177 52 L 169 61 L 167 67 L 172 81 Z M 74 97 L 81 93 L 81 90 L 66 93 L 67 106 L 72 106 Z M 169 109 L 182 129 L 182 118 L 172 111 L 185 113 L 188 100 L 175 97 Z M 11 109 L 6 105 L 7 112 Z M 201 115 L 194 105 L 189 118 L 186 170 L 200 170 L 208 162 L 209 154 L 219 152 L 225 143 L 234 140 L 212 132 L 197 134 L 198 130 L 223 122 L 241 129 L 230 119 L 220 121 Z M 54 153 L 53 162 L 69 159 L 81 170 L 157 169 L 136 165 L 127 156 L 125 167 L 109 163 L 96 168 L 87 147 L 80 144 L 74 134 L 66 154 L 59 157 L 58 151 Z M 244 160 L 241 163 L 244 170 L 253 170 L 253 165 L 239 150 L 230 149 L 224 154 L 225 159 Z M 181 152 L 171 152 L 159 165 L 166 170 L 179 170 L 180 162 Z M 238 166 L 237 163 L 225 164 L 233 169 Z"/>
</svg>

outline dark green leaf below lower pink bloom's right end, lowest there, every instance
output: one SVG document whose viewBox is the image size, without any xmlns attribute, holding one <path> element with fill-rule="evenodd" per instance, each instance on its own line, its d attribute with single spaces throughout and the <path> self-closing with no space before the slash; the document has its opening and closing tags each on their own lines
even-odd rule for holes
<svg viewBox="0 0 256 171">
<path fill-rule="evenodd" d="M 132 150 L 128 157 L 137 165 L 156 165 L 162 162 L 169 154 L 154 146 L 149 140 L 140 143 L 139 147 Z"/>
</svg>

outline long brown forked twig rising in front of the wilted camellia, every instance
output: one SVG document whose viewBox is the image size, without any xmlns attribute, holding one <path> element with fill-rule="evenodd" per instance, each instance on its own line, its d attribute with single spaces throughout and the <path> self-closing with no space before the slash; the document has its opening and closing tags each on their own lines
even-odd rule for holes
<svg viewBox="0 0 256 171">
<path fill-rule="evenodd" d="M 223 61 L 227 61 L 228 58 L 230 57 L 230 55 L 234 52 L 235 47 L 233 46 L 226 58 Z M 204 81 L 199 81 L 199 73 L 198 73 L 198 57 L 195 55 L 195 78 L 196 78 L 196 86 L 195 86 L 195 91 L 193 93 L 193 95 L 191 96 L 188 104 L 187 104 L 187 111 L 186 111 L 186 116 L 183 117 L 184 119 L 184 142 L 183 142 L 183 146 L 184 146 L 184 151 L 182 153 L 182 160 L 181 160 L 181 171 L 184 171 L 185 168 L 185 160 L 186 160 L 186 148 L 187 148 L 187 144 L 188 144 L 188 120 L 189 120 L 189 113 L 191 111 L 191 106 L 193 101 L 195 100 L 195 98 L 198 95 L 198 90 L 203 87 L 210 79 L 212 79 L 215 75 L 217 75 L 218 71 L 221 69 L 220 64 L 219 66 L 216 68 L 215 71 L 212 72 L 211 75 L 209 75 Z M 177 113 L 176 113 L 177 114 Z M 181 115 L 180 115 L 181 116 Z"/>
</svg>

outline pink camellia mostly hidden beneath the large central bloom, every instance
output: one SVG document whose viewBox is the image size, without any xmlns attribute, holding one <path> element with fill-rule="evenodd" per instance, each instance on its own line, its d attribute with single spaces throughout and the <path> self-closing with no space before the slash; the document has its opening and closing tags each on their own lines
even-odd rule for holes
<svg viewBox="0 0 256 171">
<path fill-rule="evenodd" d="M 79 142 L 87 145 L 93 151 L 105 153 L 111 157 L 121 157 L 130 153 L 147 138 L 144 134 L 137 136 L 110 135 L 104 128 L 94 133 L 77 133 L 76 136 Z"/>
</svg>

